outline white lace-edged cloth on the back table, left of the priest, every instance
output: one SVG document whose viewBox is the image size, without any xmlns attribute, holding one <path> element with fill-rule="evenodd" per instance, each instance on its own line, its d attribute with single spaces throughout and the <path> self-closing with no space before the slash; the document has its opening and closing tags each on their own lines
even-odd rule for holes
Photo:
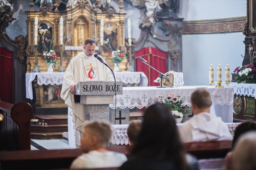
<svg viewBox="0 0 256 170">
<path fill-rule="evenodd" d="M 63 83 L 65 72 L 26 73 L 26 98 L 33 99 L 32 81 L 37 76 L 38 85 L 60 85 Z"/>
</svg>

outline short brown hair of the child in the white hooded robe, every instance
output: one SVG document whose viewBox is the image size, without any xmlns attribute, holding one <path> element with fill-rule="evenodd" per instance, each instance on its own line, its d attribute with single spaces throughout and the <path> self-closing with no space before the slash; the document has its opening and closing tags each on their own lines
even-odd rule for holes
<svg viewBox="0 0 256 170">
<path fill-rule="evenodd" d="M 210 93 L 205 88 L 199 88 L 191 94 L 191 103 L 198 108 L 209 108 L 212 105 Z"/>
</svg>

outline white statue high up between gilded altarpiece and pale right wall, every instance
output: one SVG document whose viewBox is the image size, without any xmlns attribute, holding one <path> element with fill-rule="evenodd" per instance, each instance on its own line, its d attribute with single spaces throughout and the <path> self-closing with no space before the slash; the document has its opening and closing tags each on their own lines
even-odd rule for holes
<svg viewBox="0 0 256 170">
<path fill-rule="evenodd" d="M 142 27 L 150 28 L 151 33 L 155 38 L 156 34 L 154 32 L 154 28 L 156 25 L 156 21 L 158 21 L 155 15 L 155 10 L 156 8 L 161 10 L 161 7 L 159 5 L 159 0 L 146 0 L 145 6 L 146 6 L 146 12 L 145 12 L 145 18 L 143 19 L 143 22 L 142 22 Z"/>
</svg>

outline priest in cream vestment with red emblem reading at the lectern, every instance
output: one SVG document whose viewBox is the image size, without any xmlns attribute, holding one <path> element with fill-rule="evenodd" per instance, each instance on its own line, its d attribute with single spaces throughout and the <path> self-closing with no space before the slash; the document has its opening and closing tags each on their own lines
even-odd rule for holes
<svg viewBox="0 0 256 170">
<path fill-rule="evenodd" d="M 94 39 L 88 38 L 85 40 L 84 51 L 70 60 L 61 89 L 60 97 L 71 108 L 70 115 L 72 115 L 72 121 L 74 122 L 75 145 L 77 148 L 80 148 L 85 111 L 84 104 L 74 102 L 75 85 L 85 81 L 114 81 L 110 68 L 94 56 L 95 47 Z M 103 58 L 102 60 L 106 63 Z"/>
</svg>

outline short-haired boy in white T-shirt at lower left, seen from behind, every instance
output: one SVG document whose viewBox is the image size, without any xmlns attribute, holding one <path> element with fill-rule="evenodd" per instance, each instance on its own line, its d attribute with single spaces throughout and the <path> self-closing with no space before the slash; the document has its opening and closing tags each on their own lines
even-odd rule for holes
<svg viewBox="0 0 256 170">
<path fill-rule="evenodd" d="M 112 135 L 107 122 L 87 122 L 81 138 L 81 156 L 73 160 L 70 169 L 119 167 L 127 157 L 123 153 L 106 150 Z"/>
</svg>

